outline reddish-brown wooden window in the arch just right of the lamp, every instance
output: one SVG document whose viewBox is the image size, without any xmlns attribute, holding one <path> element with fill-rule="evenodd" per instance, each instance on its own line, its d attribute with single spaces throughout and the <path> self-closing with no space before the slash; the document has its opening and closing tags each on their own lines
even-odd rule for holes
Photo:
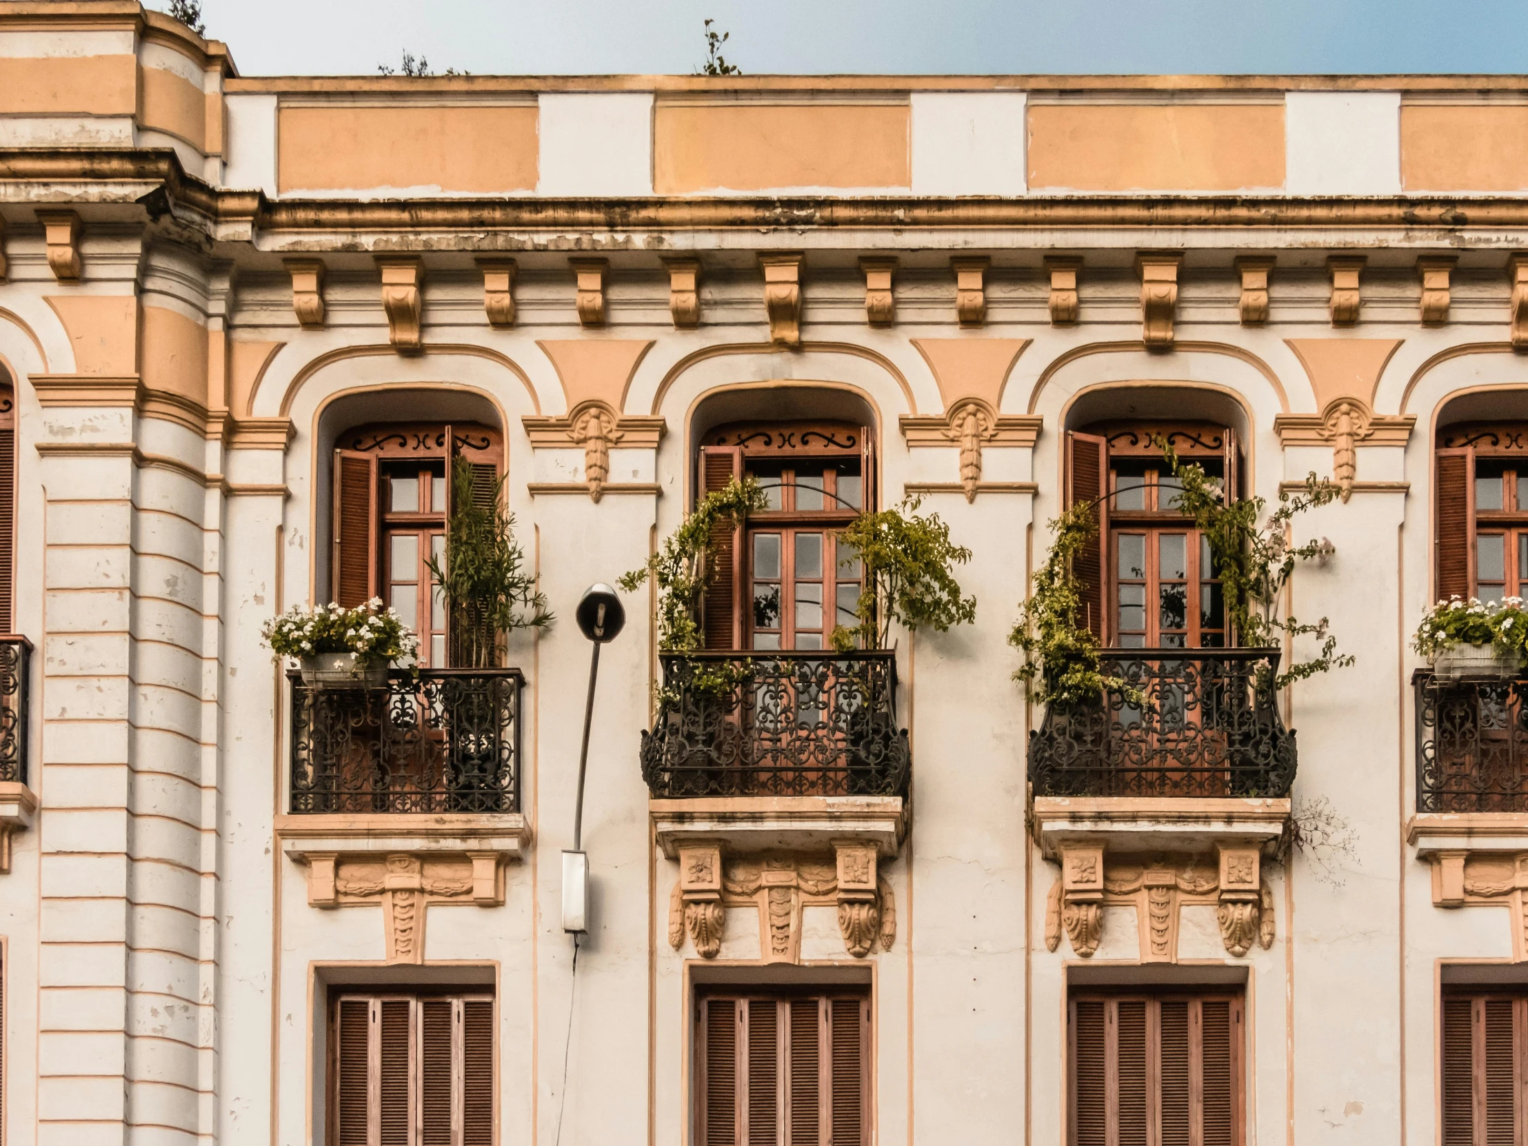
<svg viewBox="0 0 1528 1146">
<path fill-rule="evenodd" d="M 701 495 L 753 477 L 769 507 L 712 539 L 706 648 L 824 649 L 856 623 L 862 573 L 837 533 L 874 504 L 874 451 L 851 422 L 732 422 L 701 437 Z"/>
</svg>

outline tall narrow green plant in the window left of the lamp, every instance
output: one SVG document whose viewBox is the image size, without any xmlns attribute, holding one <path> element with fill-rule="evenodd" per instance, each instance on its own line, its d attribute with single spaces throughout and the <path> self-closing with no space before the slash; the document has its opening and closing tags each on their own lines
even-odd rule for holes
<svg viewBox="0 0 1528 1146">
<path fill-rule="evenodd" d="M 451 518 L 445 561 L 431 558 L 431 581 L 446 605 L 463 668 L 490 668 L 498 634 L 541 628 L 553 616 L 536 578 L 524 568 L 515 541 L 515 515 L 503 504 L 504 478 L 494 483 L 490 504 L 475 497 L 472 466 L 457 458 L 451 469 Z"/>
</svg>

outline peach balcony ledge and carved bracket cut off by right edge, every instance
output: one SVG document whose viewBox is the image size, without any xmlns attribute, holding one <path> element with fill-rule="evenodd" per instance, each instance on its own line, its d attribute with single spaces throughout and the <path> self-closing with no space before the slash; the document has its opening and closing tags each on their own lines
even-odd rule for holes
<svg viewBox="0 0 1528 1146">
<path fill-rule="evenodd" d="M 1513 963 L 1528 963 L 1528 817 L 1418 813 L 1406 825 L 1432 865 L 1435 908 L 1507 908 Z"/>
</svg>

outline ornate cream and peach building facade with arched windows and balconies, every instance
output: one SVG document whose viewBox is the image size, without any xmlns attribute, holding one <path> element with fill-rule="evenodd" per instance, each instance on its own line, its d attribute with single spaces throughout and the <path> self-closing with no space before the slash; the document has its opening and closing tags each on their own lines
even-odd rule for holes
<svg viewBox="0 0 1528 1146">
<path fill-rule="evenodd" d="M 1528 717 L 1410 646 L 1528 581 L 1525 93 L 248 78 L 0 3 L 3 1140 L 1528 1141 Z M 1340 487 L 1287 605 L 1351 666 L 1227 648 L 1160 437 Z M 558 614 L 477 668 L 457 458 Z M 651 587 L 604 648 L 575 946 L 575 605 L 735 475 L 706 651 Z M 824 651 L 905 497 L 975 622 Z M 1093 718 L 1007 642 L 1082 501 Z M 261 643 L 370 596 L 417 672 Z"/>
</svg>

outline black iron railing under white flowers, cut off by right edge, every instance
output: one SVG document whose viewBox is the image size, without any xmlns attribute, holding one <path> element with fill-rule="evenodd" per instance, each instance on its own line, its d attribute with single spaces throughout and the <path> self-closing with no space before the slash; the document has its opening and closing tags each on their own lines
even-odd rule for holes
<svg viewBox="0 0 1528 1146">
<path fill-rule="evenodd" d="M 1412 675 L 1416 810 L 1528 811 L 1528 680 Z"/>
</svg>

